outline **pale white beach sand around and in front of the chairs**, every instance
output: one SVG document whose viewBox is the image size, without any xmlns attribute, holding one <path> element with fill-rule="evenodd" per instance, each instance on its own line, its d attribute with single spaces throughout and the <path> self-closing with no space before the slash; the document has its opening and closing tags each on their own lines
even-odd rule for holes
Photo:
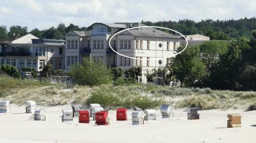
<svg viewBox="0 0 256 143">
<path fill-rule="evenodd" d="M 145 125 L 132 125 L 132 110 L 128 121 L 116 121 L 116 111 L 109 111 L 111 125 L 97 126 L 79 124 L 78 118 L 61 122 L 67 106 L 37 108 L 46 109 L 46 121 L 33 121 L 25 106 L 12 104 L 10 113 L 0 113 L 0 142 L 256 142 L 256 111 L 203 110 L 200 120 L 187 120 L 185 109 L 175 110 L 173 119 L 162 119 L 157 110 L 157 121 Z M 242 127 L 227 128 L 227 113 L 240 113 Z"/>
</svg>

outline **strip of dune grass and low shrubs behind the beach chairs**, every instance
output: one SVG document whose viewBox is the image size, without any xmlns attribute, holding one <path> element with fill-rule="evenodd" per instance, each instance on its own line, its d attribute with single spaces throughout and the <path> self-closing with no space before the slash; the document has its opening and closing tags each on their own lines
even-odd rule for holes
<svg viewBox="0 0 256 143">
<path fill-rule="evenodd" d="M 18 105 L 26 100 L 35 100 L 41 105 L 66 105 L 99 103 L 106 109 L 117 107 L 158 108 L 163 103 L 172 103 L 186 108 L 201 109 L 256 108 L 256 92 L 211 90 L 209 88 L 173 88 L 154 84 L 102 84 L 94 87 L 51 84 L 47 82 L 18 80 L 0 77 L 0 98 Z"/>
</svg>

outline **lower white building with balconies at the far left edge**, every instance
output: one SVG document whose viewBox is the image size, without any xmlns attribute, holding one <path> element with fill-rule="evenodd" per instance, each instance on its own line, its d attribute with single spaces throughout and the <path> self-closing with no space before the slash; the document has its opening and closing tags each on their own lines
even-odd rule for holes
<svg viewBox="0 0 256 143">
<path fill-rule="evenodd" d="M 40 66 L 49 62 L 55 70 L 64 68 L 65 40 L 39 39 L 32 34 L 7 40 L 0 40 L 0 65 L 12 65 L 18 70 L 27 67 L 39 71 Z"/>
</svg>

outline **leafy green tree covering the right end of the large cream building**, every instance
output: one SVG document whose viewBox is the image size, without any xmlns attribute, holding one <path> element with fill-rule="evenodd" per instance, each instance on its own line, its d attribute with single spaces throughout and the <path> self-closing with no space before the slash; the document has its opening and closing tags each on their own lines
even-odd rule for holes
<svg viewBox="0 0 256 143">
<path fill-rule="evenodd" d="M 184 46 L 178 48 L 181 51 Z M 200 59 L 199 46 L 190 46 L 173 58 L 173 73 L 186 86 L 202 81 L 205 77 L 205 65 Z"/>
</svg>

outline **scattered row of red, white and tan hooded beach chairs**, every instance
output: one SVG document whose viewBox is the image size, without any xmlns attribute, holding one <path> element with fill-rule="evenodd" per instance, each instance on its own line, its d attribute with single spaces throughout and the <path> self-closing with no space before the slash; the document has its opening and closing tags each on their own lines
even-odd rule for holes
<svg viewBox="0 0 256 143">
<path fill-rule="evenodd" d="M 36 109 L 34 101 L 26 101 L 26 113 L 32 113 L 34 120 L 46 121 L 45 109 Z M 187 110 L 187 120 L 199 119 L 199 108 L 191 107 Z M 10 101 L 0 101 L 0 113 L 10 112 Z M 160 107 L 162 118 L 174 118 L 172 105 L 163 104 Z M 71 108 L 62 109 L 62 122 L 73 121 L 73 118 L 79 118 L 79 123 L 90 123 L 93 118 L 97 125 L 110 125 L 108 111 L 104 110 L 100 104 L 90 104 L 90 107 L 71 105 Z M 228 127 L 241 127 L 241 116 L 238 114 L 228 114 Z M 135 107 L 132 112 L 133 125 L 143 125 L 144 121 L 156 120 L 156 110 Z M 116 120 L 127 120 L 127 109 L 118 108 L 116 110 Z"/>
</svg>

